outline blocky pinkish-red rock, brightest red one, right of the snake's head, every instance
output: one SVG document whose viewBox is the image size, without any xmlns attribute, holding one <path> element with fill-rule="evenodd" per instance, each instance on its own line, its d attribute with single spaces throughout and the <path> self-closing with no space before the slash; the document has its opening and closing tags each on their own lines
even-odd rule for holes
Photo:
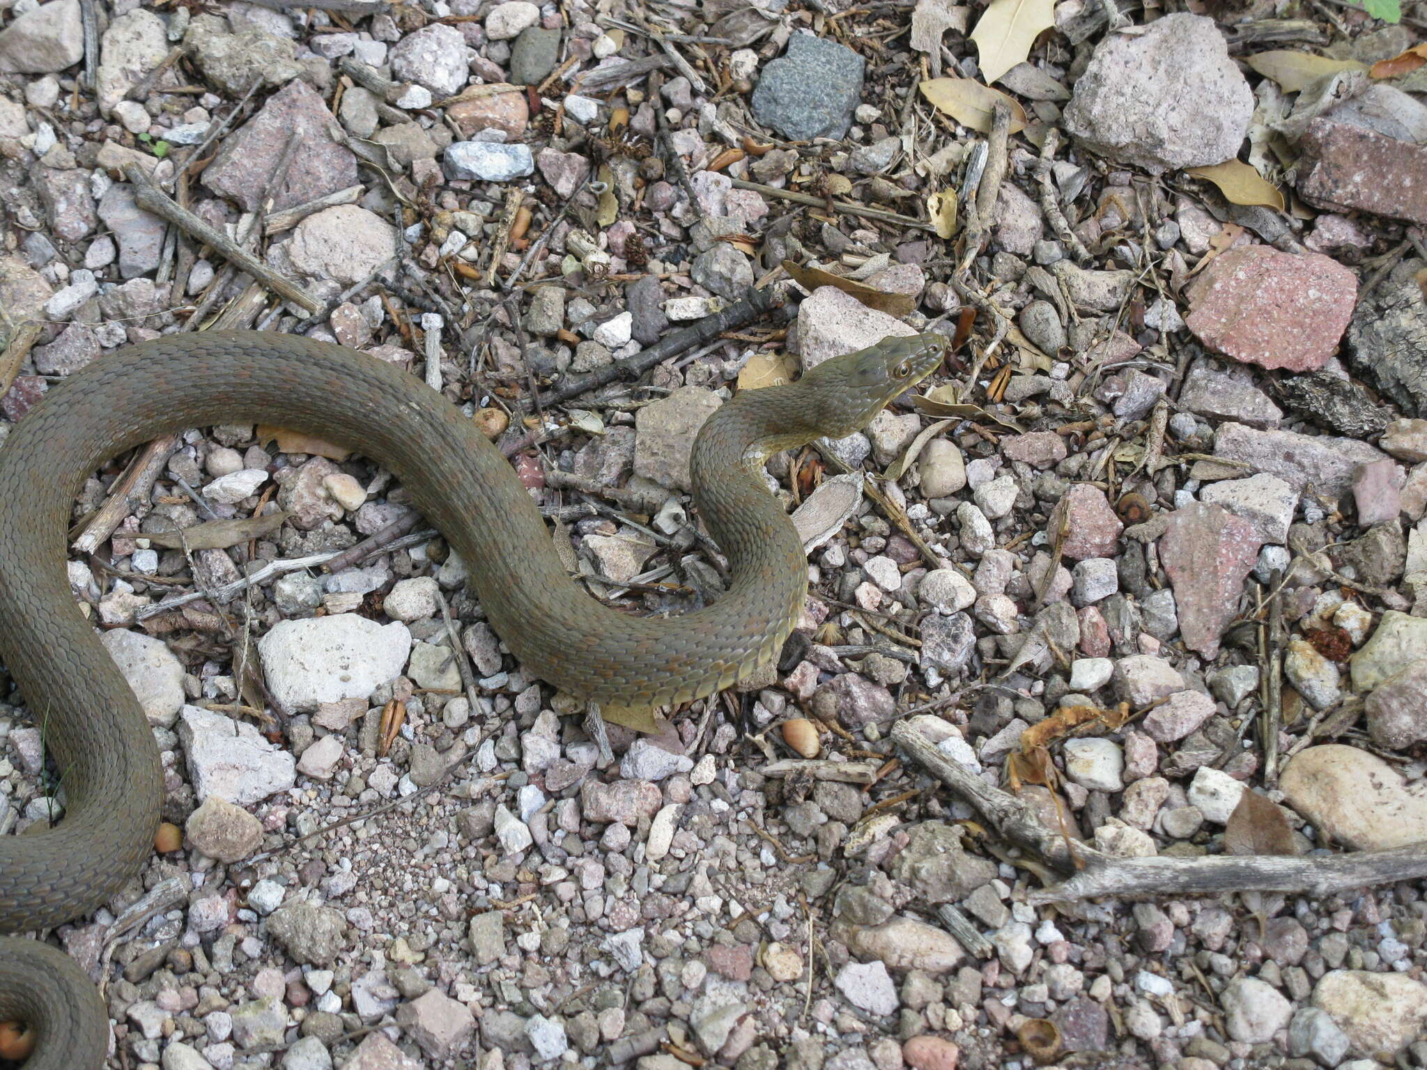
<svg viewBox="0 0 1427 1070">
<path fill-rule="evenodd" d="M 1243 245 L 1217 257 L 1187 290 L 1184 324 L 1244 364 L 1316 371 L 1337 350 L 1357 302 L 1357 275 L 1320 253 Z"/>
</svg>

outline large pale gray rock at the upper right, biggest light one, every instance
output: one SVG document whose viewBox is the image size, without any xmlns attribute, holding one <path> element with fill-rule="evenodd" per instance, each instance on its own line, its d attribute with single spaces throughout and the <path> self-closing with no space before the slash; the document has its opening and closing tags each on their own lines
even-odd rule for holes
<svg viewBox="0 0 1427 1070">
<path fill-rule="evenodd" d="M 1253 107 L 1214 20 L 1180 13 L 1100 41 L 1065 124 L 1087 148 L 1160 174 L 1232 160 Z"/>
</svg>

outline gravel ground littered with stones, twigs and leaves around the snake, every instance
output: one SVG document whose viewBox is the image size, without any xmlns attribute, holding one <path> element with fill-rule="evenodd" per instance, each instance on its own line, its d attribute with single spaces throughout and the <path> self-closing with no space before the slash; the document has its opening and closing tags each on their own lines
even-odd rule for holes
<svg viewBox="0 0 1427 1070">
<path fill-rule="evenodd" d="M 167 792 L 46 934 L 110 1066 L 1427 1066 L 1420 849 L 1183 876 L 1427 843 L 1421 4 L 277 7 L 0 0 L 0 444 L 127 342 L 334 340 L 478 421 L 594 596 L 678 612 L 721 589 L 711 411 L 958 351 L 771 461 L 798 631 L 611 763 L 360 457 L 190 429 L 98 528 L 130 458 L 91 474 L 70 584 Z M 0 835 L 63 816 L 27 698 L 0 669 Z M 1037 895 L 1153 856 L 1153 893 Z"/>
</svg>

